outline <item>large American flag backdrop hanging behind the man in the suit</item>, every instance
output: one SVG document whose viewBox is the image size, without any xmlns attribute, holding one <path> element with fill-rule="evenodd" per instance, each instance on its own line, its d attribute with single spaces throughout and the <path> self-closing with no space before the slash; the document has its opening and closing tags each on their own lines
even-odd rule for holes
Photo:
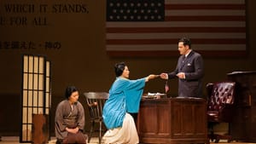
<svg viewBox="0 0 256 144">
<path fill-rule="evenodd" d="M 107 0 L 109 55 L 178 55 L 180 37 L 204 56 L 246 55 L 246 0 Z"/>
</svg>

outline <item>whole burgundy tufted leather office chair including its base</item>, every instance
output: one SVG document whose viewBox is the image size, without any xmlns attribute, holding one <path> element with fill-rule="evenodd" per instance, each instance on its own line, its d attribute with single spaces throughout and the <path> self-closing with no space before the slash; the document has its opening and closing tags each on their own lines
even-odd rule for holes
<svg viewBox="0 0 256 144">
<path fill-rule="evenodd" d="M 228 134 L 218 135 L 213 131 L 213 126 L 219 123 L 228 123 L 232 121 L 232 108 L 235 101 L 235 82 L 220 82 L 215 84 L 207 84 L 208 105 L 207 105 L 207 120 L 210 134 L 210 141 L 215 140 L 218 143 L 220 139 L 232 141 L 230 128 Z"/>
</svg>

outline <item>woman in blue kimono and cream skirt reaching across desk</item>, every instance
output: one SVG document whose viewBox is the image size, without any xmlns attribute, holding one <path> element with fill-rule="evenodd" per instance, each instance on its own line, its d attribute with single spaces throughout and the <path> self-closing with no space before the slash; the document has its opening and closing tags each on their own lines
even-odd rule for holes
<svg viewBox="0 0 256 144">
<path fill-rule="evenodd" d="M 137 113 L 143 88 L 148 80 L 158 75 L 130 80 L 130 71 L 124 62 L 114 66 L 116 79 L 109 89 L 109 98 L 103 107 L 103 121 L 108 131 L 102 140 L 105 144 L 139 143 L 136 124 L 130 113 Z"/>
</svg>

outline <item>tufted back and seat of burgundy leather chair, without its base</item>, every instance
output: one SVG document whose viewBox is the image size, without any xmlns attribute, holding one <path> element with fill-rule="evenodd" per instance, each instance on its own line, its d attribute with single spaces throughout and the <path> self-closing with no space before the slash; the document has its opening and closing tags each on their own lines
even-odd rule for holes
<svg viewBox="0 0 256 144">
<path fill-rule="evenodd" d="M 208 121 L 230 122 L 232 118 L 232 105 L 235 101 L 235 82 L 220 82 L 216 84 L 207 84 Z"/>
</svg>

